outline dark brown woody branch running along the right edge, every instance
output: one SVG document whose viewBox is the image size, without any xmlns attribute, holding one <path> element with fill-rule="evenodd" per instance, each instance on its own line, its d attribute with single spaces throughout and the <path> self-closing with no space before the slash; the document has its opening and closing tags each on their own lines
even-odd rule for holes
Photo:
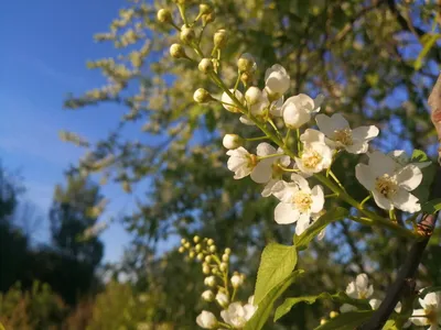
<svg viewBox="0 0 441 330">
<path fill-rule="evenodd" d="M 441 75 L 433 87 L 429 97 L 429 106 L 432 109 L 431 119 L 437 129 L 438 136 L 441 141 Z M 441 153 L 441 151 L 440 151 Z M 430 199 L 441 198 L 441 167 L 438 167 L 434 180 L 430 187 Z M 389 319 L 397 306 L 398 301 L 406 295 L 415 290 L 416 273 L 421 263 L 426 246 L 432 235 L 437 223 L 437 215 L 423 215 L 418 231 L 421 234 L 421 240 L 413 243 L 405 264 L 398 271 L 398 276 L 395 283 L 386 293 L 386 298 L 383 300 L 379 308 L 374 312 L 373 317 L 364 324 L 358 327 L 358 330 L 380 330 Z"/>
</svg>

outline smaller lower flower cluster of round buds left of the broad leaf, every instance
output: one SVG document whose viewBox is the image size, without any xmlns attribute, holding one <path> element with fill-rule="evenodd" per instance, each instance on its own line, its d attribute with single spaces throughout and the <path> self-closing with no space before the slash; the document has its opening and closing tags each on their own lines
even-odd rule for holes
<svg viewBox="0 0 441 330">
<path fill-rule="evenodd" d="M 220 319 L 208 310 L 203 310 L 196 318 L 196 323 L 203 329 L 243 329 L 257 310 L 252 296 L 247 304 L 236 300 L 237 292 L 244 284 L 245 275 L 238 272 L 229 273 L 232 250 L 225 249 L 218 254 L 212 239 L 194 237 L 193 242 L 183 239 L 179 248 L 181 253 L 187 252 L 190 258 L 202 262 L 202 272 L 208 275 L 204 279 L 207 287 L 201 295 L 206 302 L 214 302 L 220 311 Z"/>
</svg>

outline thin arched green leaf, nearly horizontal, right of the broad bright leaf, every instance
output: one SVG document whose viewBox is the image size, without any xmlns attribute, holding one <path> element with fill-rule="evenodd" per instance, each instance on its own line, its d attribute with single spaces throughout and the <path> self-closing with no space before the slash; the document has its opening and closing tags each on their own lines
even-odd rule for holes
<svg viewBox="0 0 441 330">
<path fill-rule="evenodd" d="M 309 305 L 314 304 L 318 299 L 330 299 L 337 301 L 340 304 L 349 304 L 353 306 L 356 306 L 359 309 L 372 309 L 369 301 L 367 299 L 354 299 L 347 296 L 345 293 L 336 293 L 334 295 L 331 295 L 329 293 L 322 293 L 318 296 L 303 296 L 303 297 L 295 297 L 295 298 L 287 298 L 282 305 L 280 305 L 275 315 L 275 321 L 280 319 L 282 316 L 284 316 L 287 312 L 291 310 L 291 308 L 299 304 L 299 302 L 306 302 Z"/>
</svg>

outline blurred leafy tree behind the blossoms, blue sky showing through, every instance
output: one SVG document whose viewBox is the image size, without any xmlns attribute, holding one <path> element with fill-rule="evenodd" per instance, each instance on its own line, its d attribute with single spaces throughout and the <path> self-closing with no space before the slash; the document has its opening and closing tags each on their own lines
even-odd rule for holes
<svg viewBox="0 0 441 330">
<path fill-rule="evenodd" d="M 375 147 L 417 147 L 434 155 L 435 131 L 430 124 L 426 97 L 441 61 L 430 47 L 420 55 L 432 36 L 434 3 L 214 2 L 216 15 L 203 18 L 207 23 L 205 32 L 213 35 L 219 29 L 227 30 L 228 48 L 222 52 L 222 73 L 230 86 L 237 58 L 251 53 L 259 67 L 279 63 L 287 68 L 292 80 L 290 92 L 323 92 L 325 113 L 344 112 L 354 125 L 380 123 L 387 134 L 375 142 Z M 266 242 L 290 242 L 293 229 L 273 224 L 276 201 L 262 200 L 259 187 L 250 180 L 230 179 L 220 138 L 239 130 L 246 136 L 255 136 L 257 131 L 233 120 L 218 105 L 202 107 L 193 102 L 194 90 L 211 87 L 191 62 L 176 62 L 169 55 L 169 46 L 179 37 L 170 34 L 170 25 L 158 22 L 155 16 L 166 3 L 132 1 L 121 10 L 109 31 L 96 35 L 98 41 L 112 43 L 118 56 L 88 63 L 88 67 L 103 73 L 106 84 L 66 100 L 71 109 L 97 103 L 105 107 L 109 102 L 126 107 L 117 129 L 95 144 L 73 133 L 66 132 L 63 138 L 88 148 L 78 164 L 79 172 L 100 173 L 126 191 L 136 185 L 144 189 L 144 196 L 138 198 L 138 211 L 125 219 L 136 237 L 132 251 L 137 262 L 131 265 L 139 277 L 146 276 L 142 270 L 152 267 L 168 274 L 160 265 L 169 271 L 181 267 L 182 278 L 189 276 L 193 272 L 189 265 L 180 264 L 172 254 L 152 257 L 151 249 L 158 246 L 158 241 L 190 237 L 195 231 L 214 238 L 219 249 L 234 246 L 237 267 L 255 274 Z M 263 75 L 244 78 L 262 85 Z M 128 129 L 138 129 L 139 139 L 128 139 Z M 351 191 L 357 191 L 353 172 L 348 170 L 354 162 L 354 157 L 345 155 L 335 166 L 336 175 Z M 361 195 L 354 197 L 363 198 L 364 193 L 358 191 Z M 367 205 L 376 207 L 370 201 Z M 331 207 L 336 206 L 335 202 Z M 404 221 L 400 215 L 398 221 Z M 342 288 L 348 276 L 359 272 L 372 273 L 381 288 L 392 282 L 394 271 L 406 256 L 406 249 L 398 248 L 406 246 L 406 241 L 383 229 L 348 221 L 333 224 L 331 231 L 331 239 L 314 243 L 313 251 L 303 255 L 302 267 L 312 275 L 302 282 L 302 287 L 293 288 L 297 295 L 323 285 L 327 289 Z M 142 249 L 147 245 L 151 249 Z M 142 254 L 143 251 L 149 252 Z M 432 263 L 419 278 L 426 284 L 440 284 L 439 262 L 432 252 L 435 249 L 428 254 Z M 192 289 L 200 293 L 203 278 L 198 276 L 192 280 Z M 163 318 L 192 324 L 194 305 L 185 304 L 190 299 L 185 296 L 175 299 L 182 293 L 180 286 L 166 295 Z M 176 314 L 179 308 L 185 312 Z M 305 312 L 299 306 L 281 322 L 309 329 L 316 323 L 318 315 L 323 315 L 323 309 Z"/>
</svg>

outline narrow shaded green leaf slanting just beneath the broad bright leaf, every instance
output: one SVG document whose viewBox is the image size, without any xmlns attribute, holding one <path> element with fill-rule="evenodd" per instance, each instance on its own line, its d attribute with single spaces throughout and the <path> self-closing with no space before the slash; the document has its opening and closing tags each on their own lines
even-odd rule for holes
<svg viewBox="0 0 441 330">
<path fill-rule="evenodd" d="M 275 305 L 275 301 L 277 298 L 279 298 L 286 290 L 287 288 L 295 282 L 295 279 L 302 275 L 304 271 L 299 270 L 295 271 L 291 274 L 289 274 L 283 280 L 279 283 L 266 297 L 265 299 L 259 304 L 255 315 L 252 318 L 249 319 L 249 321 L 246 323 L 244 330 L 259 330 L 261 329 L 266 321 L 268 320 L 269 315 L 272 311 L 272 306 Z M 256 296 L 255 296 L 255 301 L 256 301 Z M 256 302 L 255 302 L 256 304 Z"/>
</svg>

